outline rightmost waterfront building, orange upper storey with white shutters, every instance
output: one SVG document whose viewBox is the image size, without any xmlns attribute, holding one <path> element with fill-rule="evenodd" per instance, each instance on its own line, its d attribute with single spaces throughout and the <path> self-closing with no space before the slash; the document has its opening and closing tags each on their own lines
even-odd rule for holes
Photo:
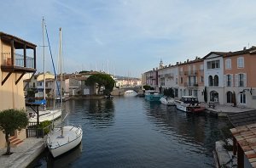
<svg viewBox="0 0 256 168">
<path fill-rule="evenodd" d="M 256 47 L 224 53 L 224 102 L 256 109 Z"/>
</svg>

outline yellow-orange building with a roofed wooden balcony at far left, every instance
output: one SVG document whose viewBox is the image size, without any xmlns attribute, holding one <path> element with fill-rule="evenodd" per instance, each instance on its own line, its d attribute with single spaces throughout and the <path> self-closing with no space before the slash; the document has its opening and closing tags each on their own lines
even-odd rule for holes
<svg viewBox="0 0 256 168">
<path fill-rule="evenodd" d="M 0 31 L 0 111 L 25 109 L 22 77 L 36 72 L 36 45 Z M 23 140 L 26 131 L 12 132 Z M 0 132 L 0 148 L 5 147 L 3 132 Z"/>
</svg>

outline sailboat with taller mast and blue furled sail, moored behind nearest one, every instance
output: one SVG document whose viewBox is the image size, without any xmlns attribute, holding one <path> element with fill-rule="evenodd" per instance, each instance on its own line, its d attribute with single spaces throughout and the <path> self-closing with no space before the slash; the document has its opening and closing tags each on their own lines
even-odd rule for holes
<svg viewBox="0 0 256 168">
<path fill-rule="evenodd" d="M 46 25 L 45 25 L 45 20 L 43 18 L 43 58 L 44 58 L 44 99 L 40 100 L 40 101 L 36 101 L 34 104 L 41 104 L 44 105 L 44 109 L 43 110 L 39 110 L 38 114 L 37 113 L 31 113 L 30 118 L 29 118 L 29 122 L 37 122 L 38 121 L 38 115 L 39 115 L 39 122 L 43 122 L 44 120 L 56 120 L 58 118 L 61 117 L 61 109 L 55 109 L 55 102 L 54 102 L 54 108 L 53 109 L 46 109 L 45 105 L 46 105 L 46 92 L 45 92 L 45 52 L 44 52 L 44 31 L 47 32 L 46 30 Z M 44 30 L 45 28 L 45 30 Z M 49 42 L 49 39 L 48 39 Z M 50 52 L 51 53 L 51 52 Z M 54 66 L 54 64 L 53 64 Z M 56 83 L 56 81 L 55 81 Z M 55 88 L 56 91 L 56 88 Z"/>
</svg>

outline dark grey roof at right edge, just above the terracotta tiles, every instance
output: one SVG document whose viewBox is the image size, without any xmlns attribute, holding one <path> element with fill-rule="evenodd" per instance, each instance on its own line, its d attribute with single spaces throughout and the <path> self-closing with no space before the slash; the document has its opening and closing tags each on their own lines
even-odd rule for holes
<svg viewBox="0 0 256 168">
<path fill-rule="evenodd" d="M 256 110 L 239 112 L 239 113 L 229 113 L 228 117 L 233 126 L 246 126 L 249 124 L 256 123 Z"/>
</svg>

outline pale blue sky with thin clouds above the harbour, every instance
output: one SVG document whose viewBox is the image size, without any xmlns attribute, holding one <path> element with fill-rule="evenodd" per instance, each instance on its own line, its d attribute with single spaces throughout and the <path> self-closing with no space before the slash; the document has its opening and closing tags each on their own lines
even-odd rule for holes
<svg viewBox="0 0 256 168">
<path fill-rule="evenodd" d="M 0 31 L 38 46 L 43 71 L 42 20 L 57 62 L 62 29 L 64 71 L 105 71 L 141 77 L 212 51 L 256 45 L 255 0 L 0 0 Z M 46 70 L 53 68 L 46 51 Z"/>
</svg>

